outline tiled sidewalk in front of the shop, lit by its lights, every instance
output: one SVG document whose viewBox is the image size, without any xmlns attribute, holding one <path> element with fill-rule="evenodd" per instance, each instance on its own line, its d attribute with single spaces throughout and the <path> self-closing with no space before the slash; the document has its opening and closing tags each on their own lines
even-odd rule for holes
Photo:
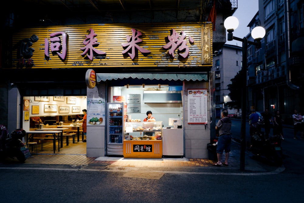
<svg viewBox="0 0 304 203">
<path fill-rule="evenodd" d="M 44 147 L 46 148 L 46 147 Z M 33 155 L 26 159 L 24 164 L 18 164 L 18 167 L 79 167 L 79 166 L 96 166 L 102 165 L 108 168 L 124 168 L 126 167 L 141 167 L 141 168 L 158 168 L 153 170 L 207 170 L 209 172 L 230 172 L 230 173 L 264 173 L 271 172 L 278 169 L 278 167 L 270 166 L 252 159 L 250 152 L 245 152 L 245 171 L 240 171 L 240 144 L 232 141 L 231 152 L 229 158 L 229 166 L 212 166 L 212 161 L 209 159 L 188 159 L 188 158 L 161 158 L 161 159 L 130 159 L 123 157 L 87 157 L 85 155 L 86 143 L 78 142 L 73 144 L 71 148 L 65 146 L 60 149 L 56 154 L 47 153 L 46 150 L 38 150 L 38 156 Z M 73 150 L 74 153 L 71 151 Z M 84 151 L 81 151 L 84 150 Z M 77 154 L 75 153 L 77 151 Z M 82 154 L 81 154 L 82 153 Z M 223 154 L 222 159 L 225 156 Z M 11 163 L 19 163 L 16 159 L 8 160 L 0 167 L 8 166 Z M 53 165 L 53 166 L 50 166 Z M 55 166 L 57 165 L 57 166 Z M 282 170 L 282 167 L 281 167 Z M 284 169 L 283 169 L 284 170 Z"/>
</svg>

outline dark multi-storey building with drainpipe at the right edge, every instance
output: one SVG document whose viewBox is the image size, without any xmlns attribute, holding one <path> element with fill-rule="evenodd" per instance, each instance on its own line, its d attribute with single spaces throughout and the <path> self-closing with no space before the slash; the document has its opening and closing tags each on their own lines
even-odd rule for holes
<svg viewBox="0 0 304 203">
<path fill-rule="evenodd" d="M 248 45 L 247 107 L 268 108 L 272 114 L 280 110 L 289 124 L 294 109 L 304 110 L 303 8 L 300 0 L 260 0 L 259 11 L 248 25 L 250 30 L 263 26 L 266 35 L 261 49 Z"/>
</svg>

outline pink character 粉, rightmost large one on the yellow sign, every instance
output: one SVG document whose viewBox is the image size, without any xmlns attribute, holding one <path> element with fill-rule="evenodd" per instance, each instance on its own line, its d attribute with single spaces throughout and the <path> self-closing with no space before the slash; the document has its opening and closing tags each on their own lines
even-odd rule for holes
<svg viewBox="0 0 304 203">
<path fill-rule="evenodd" d="M 187 41 L 185 40 L 186 33 L 184 31 L 181 31 L 181 37 L 179 37 L 179 34 L 172 29 L 172 34 L 168 35 L 169 42 L 163 46 L 164 49 L 169 49 L 169 54 L 172 58 L 174 58 L 174 51 L 177 49 L 179 51 L 185 50 L 184 54 L 179 54 L 182 58 L 186 58 L 189 55 L 189 47 L 187 47 Z"/>
</svg>

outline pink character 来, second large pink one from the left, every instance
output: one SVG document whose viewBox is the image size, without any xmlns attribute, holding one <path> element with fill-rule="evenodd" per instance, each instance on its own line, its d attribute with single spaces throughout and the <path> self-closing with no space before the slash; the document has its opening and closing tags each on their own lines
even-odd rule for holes
<svg viewBox="0 0 304 203">
<path fill-rule="evenodd" d="M 85 35 L 85 40 L 83 40 L 83 44 L 85 45 L 85 47 L 80 48 L 81 50 L 85 50 L 83 51 L 82 54 L 80 54 L 81 56 L 84 56 L 85 54 L 87 54 L 87 57 L 93 61 L 93 51 L 97 54 L 106 54 L 103 51 L 100 51 L 98 49 L 95 49 L 93 46 L 98 45 L 97 43 L 97 38 L 95 38 L 97 36 L 97 34 L 94 32 L 94 30 L 92 28 L 90 28 L 90 34 Z M 88 51 L 90 51 L 90 54 L 88 54 Z"/>
</svg>

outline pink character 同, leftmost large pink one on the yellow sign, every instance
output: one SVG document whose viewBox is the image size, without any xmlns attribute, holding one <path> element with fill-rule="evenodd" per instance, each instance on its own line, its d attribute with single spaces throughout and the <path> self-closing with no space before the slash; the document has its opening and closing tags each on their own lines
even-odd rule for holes
<svg viewBox="0 0 304 203">
<path fill-rule="evenodd" d="M 57 36 L 62 36 L 62 41 Z M 51 41 L 51 51 L 56 52 L 61 60 L 65 60 L 67 57 L 67 34 L 65 32 L 56 32 L 50 34 L 50 41 Z M 60 44 L 62 42 L 62 45 Z M 49 53 L 49 41 L 47 38 L 44 38 L 44 54 L 46 57 L 50 57 Z M 61 51 L 61 53 L 60 53 Z"/>
</svg>

